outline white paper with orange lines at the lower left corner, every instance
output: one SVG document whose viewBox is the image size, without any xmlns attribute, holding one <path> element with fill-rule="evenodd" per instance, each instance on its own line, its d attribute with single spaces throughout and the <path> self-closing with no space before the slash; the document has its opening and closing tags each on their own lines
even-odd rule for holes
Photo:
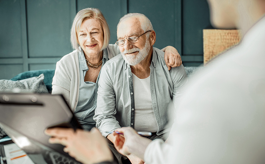
<svg viewBox="0 0 265 164">
<path fill-rule="evenodd" d="M 15 143 L 4 145 L 7 164 L 34 164 Z"/>
</svg>

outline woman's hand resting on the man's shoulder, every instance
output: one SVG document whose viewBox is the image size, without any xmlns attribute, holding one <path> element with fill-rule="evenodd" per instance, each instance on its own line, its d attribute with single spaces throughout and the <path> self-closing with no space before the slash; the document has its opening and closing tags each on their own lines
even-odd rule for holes
<svg viewBox="0 0 265 164">
<path fill-rule="evenodd" d="M 162 49 L 163 52 L 165 52 L 164 59 L 166 62 L 166 65 L 168 66 L 168 70 L 174 67 L 181 66 L 182 60 L 180 57 L 180 54 L 178 53 L 178 50 L 172 46 L 167 46 Z"/>
</svg>

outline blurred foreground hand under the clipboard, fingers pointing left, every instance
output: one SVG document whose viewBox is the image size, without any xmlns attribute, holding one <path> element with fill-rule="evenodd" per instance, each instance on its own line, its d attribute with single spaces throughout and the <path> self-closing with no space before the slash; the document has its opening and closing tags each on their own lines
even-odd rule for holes
<svg viewBox="0 0 265 164">
<path fill-rule="evenodd" d="M 45 134 L 51 136 L 51 144 L 62 144 L 64 152 L 84 164 L 103 161 L 113 161 L 113 156 L 107 146 L 106 139 L 99 130 L 93 128 L 90 132 L 70 128 L 46 129 Z"/>
</svg>

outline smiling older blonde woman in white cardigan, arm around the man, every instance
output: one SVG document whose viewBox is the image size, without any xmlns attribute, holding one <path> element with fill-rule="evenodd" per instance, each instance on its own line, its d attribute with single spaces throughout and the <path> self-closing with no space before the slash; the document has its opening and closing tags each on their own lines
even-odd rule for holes
<svg viewBox="0 0 265 164">
<path fill-rule="evenodd" d="M 80 10 L 71 28 L 71 44 L 75 50 L 56 63 L 52 94 L 64 96 L 85 130 L 95 127 L 93 116 L 101 67 L 107 60 L 120 53 L 118 45 L 108 45 L 109 40 L 110 30 L 100 10 L 94 8 Z M 180 56 L 176 49 L 172 48 L 171 46 L 164 48 L 176 52 L 173 55 L 166 53 L 165 59 L 176 62 L 167 65 L 179 66 L 181 61 L 177 61 Z"/>
</svg>

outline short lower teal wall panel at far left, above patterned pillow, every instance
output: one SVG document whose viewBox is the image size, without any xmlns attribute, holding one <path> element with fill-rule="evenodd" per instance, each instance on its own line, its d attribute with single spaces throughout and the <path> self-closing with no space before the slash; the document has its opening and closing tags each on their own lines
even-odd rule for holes
<svg viewBox="0 0 265 164">
<path fill-rule="evenodd" d="M 21 73 L 21 70 L 23 70 L 23 64 L 1 64 L 0 70 L 1 79 L 9 80 L 17 74 Z"/>
</svg>

